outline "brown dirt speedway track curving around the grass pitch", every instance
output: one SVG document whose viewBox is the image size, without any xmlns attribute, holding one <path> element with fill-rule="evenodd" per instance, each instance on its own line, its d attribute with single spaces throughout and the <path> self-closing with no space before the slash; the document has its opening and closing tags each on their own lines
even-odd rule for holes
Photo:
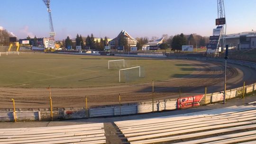
<svg viewBox="0 0 256 144">
<path fill-rule="evenodd" d="M 223 90 L 223 63 L 196 60 L 179 61 L 196 68 L 190 75 L 170 78 L 166 81 L 155 81 L 155 99 L 177 99 L 181 89 L 182 96 L 203 94 Z M 152 67 L 153 68 L 153 67 Z M 227 69 L 227 90 L 256 82 L 256 70 L 244 66 L 229 64 Z M 122 103 L 148 101 L 152 99 L 152 83 L 130 84 L 121 86 L 89 88 L 53 88 L 54 108 L 84 107 L 85 96 L 88 105 L 118 104 L 121 95 Z M 49 91 L 45 88 L 9 88 L 0 87 L 0 108 L 13 108 L 11 99 L 15 99 L 16 108 L 49 108 Z"/>
</svg>

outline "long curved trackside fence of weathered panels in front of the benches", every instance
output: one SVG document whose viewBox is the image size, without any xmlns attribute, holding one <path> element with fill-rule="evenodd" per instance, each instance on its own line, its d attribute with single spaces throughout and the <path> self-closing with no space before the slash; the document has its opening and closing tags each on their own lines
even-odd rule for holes
<svg viewBox="0 0 256 144">
<path fill-rule="evenodd" d="M 256 83 L 236 89 L 226 90 L 226 99 L 244 98 L 255 92 Z M 0 121 L 48 121 L 74 118 L 122 116 L 149 113 L 163 110 L 175 110 L 222 102 L 223 91 L 179 99 L 152 100 L 140 103 L 95 106 L 91 108 L 6 108 L 0 110 Z M 15 103 L 14 103 L 15 104 Z"/>
</svg>

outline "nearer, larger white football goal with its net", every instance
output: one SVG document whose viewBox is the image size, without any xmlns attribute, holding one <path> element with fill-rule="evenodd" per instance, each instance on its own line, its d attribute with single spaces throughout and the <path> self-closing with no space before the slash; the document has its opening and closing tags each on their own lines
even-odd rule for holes
<svg viewBox="0 0 256 144">
<path fill-rule="evenodd" d="M 119 82 L 137 81 L 144 77 L 144 67 L 136 66 L 119 70 Z"/>
</svg>

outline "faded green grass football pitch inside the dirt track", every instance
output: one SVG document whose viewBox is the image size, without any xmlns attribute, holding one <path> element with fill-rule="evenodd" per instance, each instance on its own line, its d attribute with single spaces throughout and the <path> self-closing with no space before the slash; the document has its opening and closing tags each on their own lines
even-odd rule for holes
<svg viewBox="0 0 256 144">
<path fill-rule="evenodd" d="M 108 70 L 108 61 L 125 59 L 126 68 L 142 66 L 144 78 L 119 83 L 119 70 Z M 107 57 L 69 54 L 20 54 L 0 57 L 0 86 L 27 88 L 75 88 L 163 81 L 190 74 L 192 66 L 177 66 L 164 59 Z M 191 71 L 182 71 L 191 68 Z M 134 71 L 136 72 L 136 71 Z"/>
</svg>

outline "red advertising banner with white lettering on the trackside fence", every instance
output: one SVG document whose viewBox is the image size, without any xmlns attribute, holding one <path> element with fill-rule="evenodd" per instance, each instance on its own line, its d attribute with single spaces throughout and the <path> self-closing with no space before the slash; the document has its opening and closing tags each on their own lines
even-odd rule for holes
<svg viewBox="0 0 256 144">
<path fill-rule="evenodd" d="M 203 98 L 204 95 L 197 95 L 197 96 L 191 96 L 191 97 L 185 97 L 181 99 L 177 99 L 178 108 L 188 108 L 193 106 L 199 106 L 200 101 Z"/>
</svg>

